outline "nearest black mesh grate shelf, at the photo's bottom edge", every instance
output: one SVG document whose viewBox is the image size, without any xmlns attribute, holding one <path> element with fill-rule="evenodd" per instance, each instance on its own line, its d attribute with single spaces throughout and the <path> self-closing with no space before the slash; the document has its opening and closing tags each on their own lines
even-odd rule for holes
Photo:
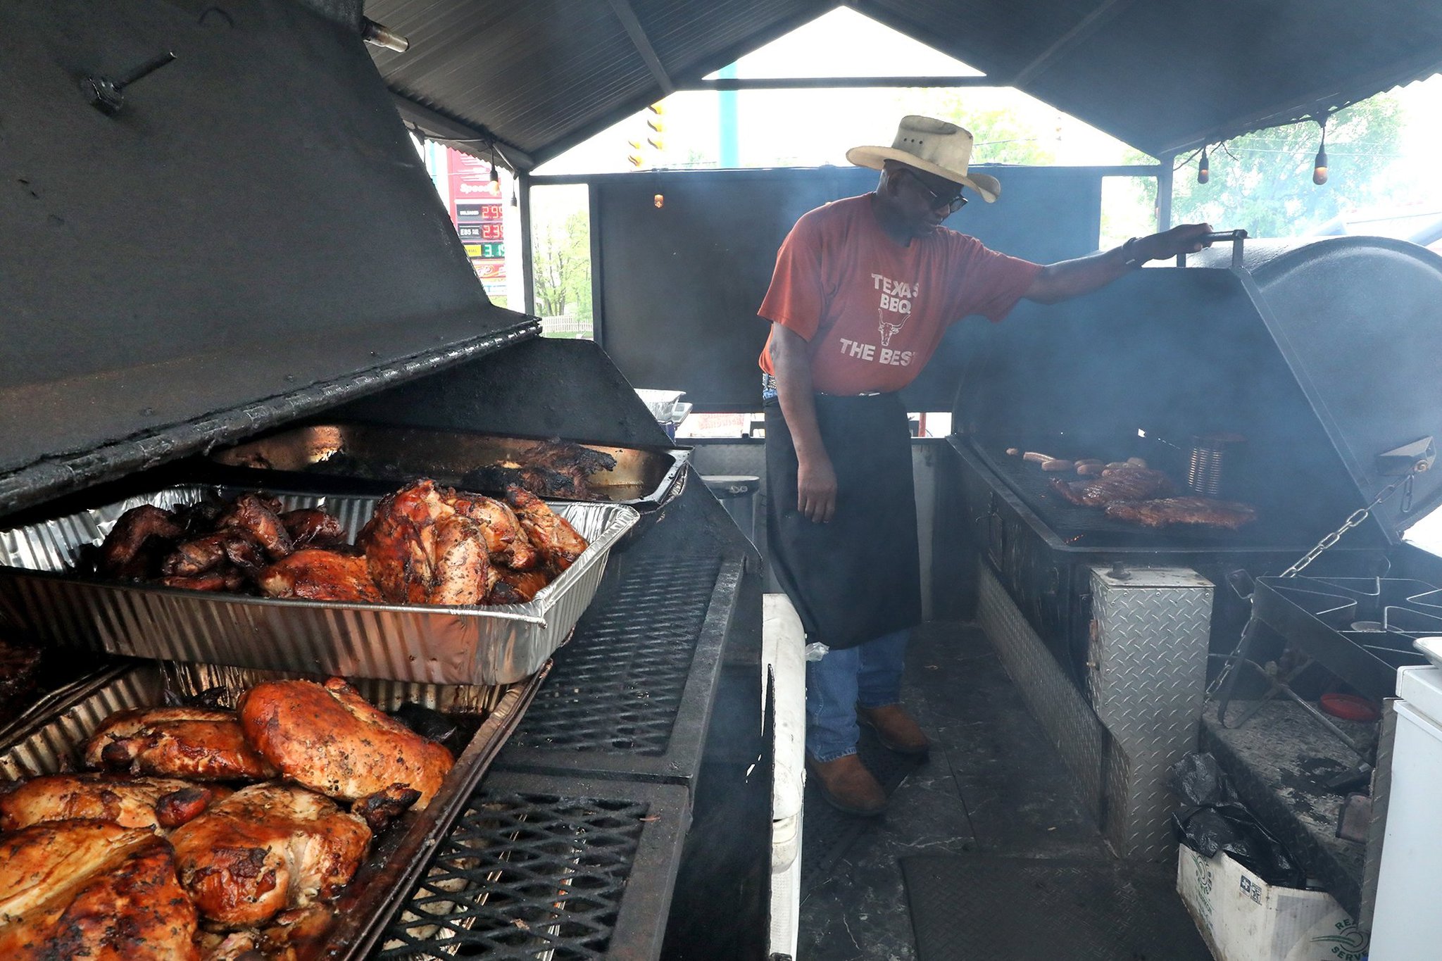
<svg viewBox="0 0 1442 961">
<path fill-rule="evenodd" d="M 492 775 L 375 957 L 652 957 L 685 818 L 678 787 Z"/>
</svg>

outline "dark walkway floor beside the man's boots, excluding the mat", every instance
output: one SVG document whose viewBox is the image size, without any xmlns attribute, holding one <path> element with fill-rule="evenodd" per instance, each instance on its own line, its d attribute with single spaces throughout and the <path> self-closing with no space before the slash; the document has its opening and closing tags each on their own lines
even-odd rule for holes
<svg viewBox="0 0 1442 961">
<path fill-rule="evenodd" d="M 914 960 L 897 860 L 907 854 L 1110 857 L 979 628 L 919 628 L 903 697 L 933 739 L 930 758 L 829 875 L 802 892 L 799 961 Z"/>
</svg>

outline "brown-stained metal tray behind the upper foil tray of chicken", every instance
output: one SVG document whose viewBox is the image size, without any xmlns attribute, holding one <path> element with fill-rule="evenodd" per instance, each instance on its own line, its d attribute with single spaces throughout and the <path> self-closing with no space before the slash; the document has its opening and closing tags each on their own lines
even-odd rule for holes
<svg viewBox="0 0 1442 961">
<path fill-rule="evenodd" d="M 241 484 L 261 487 L 296 486 L 311 488 L 311 477 L 352 481 L 346 490 L 372 484 L 394 488 L 412 477 L 431 477 L 440 484 L 486 491 L 467 480 L 479 467 L 499 461 L 525 461 L 523 452 L 544 438 L 467 431 L 435 431 L 369 424 L 313 424 L 247 441 L 211 454 L 211 461 L 229 470 L 255 473 Z M 610 454 L 616 467 L 587 477 L 588 501 L 629 504 L 640 511 L 656 510 L 676 497 L 686 483 L 688 448 L 616 447 L 584 444 Z M 294 477 L 294 475 L 300 477 Z M 267 480 L 291 475 L 291 480 Z M 226 481 L 228 477 L 208 480 Z M 358 487 L 356 484 L 365 484 Z"/>
</svg>

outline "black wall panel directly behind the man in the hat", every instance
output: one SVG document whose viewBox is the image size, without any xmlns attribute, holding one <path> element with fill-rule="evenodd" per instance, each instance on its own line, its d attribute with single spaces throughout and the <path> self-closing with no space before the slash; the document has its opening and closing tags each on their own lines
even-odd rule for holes
<svg viewBox="0 0 1442 961">
<path fill-rule="evenodd" d="M 969 205 L 949 226 L 1037 262 L 1096 249 L 1100 179 L 1094 171 L 991 173 L 1002 180 L 1002 199 Z M 758 409 L 756 360 L 767 323 L 756 310 L 777 246 L 806 210 L 865 193 L 875 183 L 877 171 L 862 167 L 597 177 L 591 187 L 601 252 L 596 303 L 606 352 L 636 386 L 686 390 L 696 409 Z M 936 370 L 913 390 L 913 409 L 950 409 L 965 353 L 966 331 L 959 328 L 976 324 L 985 321 L 953 328 L 957 336 L 943 344 Z"/>
</svg>

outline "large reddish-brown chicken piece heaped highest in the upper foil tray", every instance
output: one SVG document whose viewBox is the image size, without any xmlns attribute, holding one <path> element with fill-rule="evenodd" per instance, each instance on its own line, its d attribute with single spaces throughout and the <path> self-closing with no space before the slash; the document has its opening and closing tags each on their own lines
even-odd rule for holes
<svg viewBox="0 0 1442 961">
<path fill-rule="evenodd" d="M 485 530 L 430 480 L 381 499 L 356 545 L 392 604 L 480 604 L 495 584 Z"/>
</svg>

